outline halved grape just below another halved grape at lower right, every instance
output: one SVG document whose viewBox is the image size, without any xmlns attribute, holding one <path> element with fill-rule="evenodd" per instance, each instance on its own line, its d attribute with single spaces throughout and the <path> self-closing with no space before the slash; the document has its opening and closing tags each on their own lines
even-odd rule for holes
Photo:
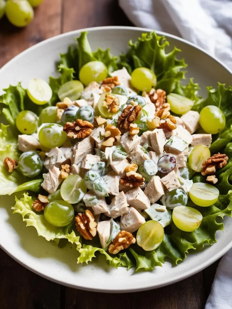
<svg viewBox="0 0 232 309">
<path fill-rule="evenodd" d="M 193 232 L 200 226 L 202 214 L 192 207 L 177 206 L 172 212 L 172 220 L 181 231 Z"/>
</svg>

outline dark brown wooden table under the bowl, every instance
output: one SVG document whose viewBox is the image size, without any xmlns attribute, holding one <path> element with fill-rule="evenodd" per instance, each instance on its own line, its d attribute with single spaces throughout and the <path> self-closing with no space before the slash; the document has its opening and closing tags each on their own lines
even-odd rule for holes
<svg viewBox="0 0 232 309">
<path fill-rule="evenodd" d="M 129 25 L 116 0 L 44 0 L 23 29 L 0 21 L 0 67 L 28 47 L 60 33 L 86 27 Z M 23 222 L 22 222 L 23 224 Z M 197 309 L 203 308 L 217 262 L 183 281 L 157 290 L 101 294 L 61 286 L 25 269 L 0 251 L 1 309 Z"/>
</svg>

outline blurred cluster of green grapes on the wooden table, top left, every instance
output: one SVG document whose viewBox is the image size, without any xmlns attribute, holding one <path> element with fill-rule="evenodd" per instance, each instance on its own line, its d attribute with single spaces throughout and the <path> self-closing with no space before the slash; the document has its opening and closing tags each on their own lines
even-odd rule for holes
<svg viewBox="0 0 232 309">
<path fill-rule="evenodd" d="M 0 19 L 4 14 L 16 27 L 25 27 L 34 18 L 33 7 L 43 0 L 0 0 Z"/>
</svg>

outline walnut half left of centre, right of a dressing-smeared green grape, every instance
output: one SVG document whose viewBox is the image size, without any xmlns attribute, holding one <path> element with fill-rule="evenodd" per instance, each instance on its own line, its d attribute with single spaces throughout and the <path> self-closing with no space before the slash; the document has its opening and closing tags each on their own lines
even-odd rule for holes
<svg viewBox="0 0 232 309">
<path fill-rule="evenodd" d="M 77 119 L 74 122 L 66 122 L 63 131 L 66 132 L 69 138 L 85 138 L 92 133 L 92 123 Z"/>
</svg>

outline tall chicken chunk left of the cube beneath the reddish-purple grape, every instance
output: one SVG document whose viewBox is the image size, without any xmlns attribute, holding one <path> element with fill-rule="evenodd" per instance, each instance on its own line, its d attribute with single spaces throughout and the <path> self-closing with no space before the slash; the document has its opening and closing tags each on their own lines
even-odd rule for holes
<svg viewBox="0 0 232 309">
<path fill-rule="evenodd" d="M 149 198 L 152 204 L 157 202 L 161 198 L 161 196 L 164 195 L 164 188 L 159 176 L 152 177 L 152 179 L 148 182 L 144 193 Z"/>
</svg>

